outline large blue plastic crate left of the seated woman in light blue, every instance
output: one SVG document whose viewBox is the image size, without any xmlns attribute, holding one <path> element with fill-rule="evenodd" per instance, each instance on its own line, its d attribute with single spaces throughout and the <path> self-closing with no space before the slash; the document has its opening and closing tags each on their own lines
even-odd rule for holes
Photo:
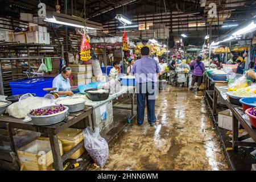
<svg viewBox="0 0 256 182">
<path fill-rule="evenodd" d="M 13 95 L 35 93 L 38 97 L 44 97 L 47 92 L 43 89 L 52 88 L 53 79 L 54 77 L 28 78 L 25 80 L 11 81 L 9 85 Z"/>
</svg>

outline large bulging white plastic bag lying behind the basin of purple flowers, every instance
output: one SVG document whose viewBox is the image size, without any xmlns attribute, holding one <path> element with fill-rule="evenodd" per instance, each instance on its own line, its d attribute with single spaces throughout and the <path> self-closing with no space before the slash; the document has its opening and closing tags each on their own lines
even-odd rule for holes
<svg viewBox="0 0 256 182">
<path fill-rule="evenodd" d="M 40 107 L 47 107 L 52 105 L 55 105 L 55 103 L 48 98 L 30 97 L 27 95 L 23 98 L 21 97 L 19 102 L 15 102 L 7 107 L 6 111 L 12 117 L 21 119 L 27 117 L 27 113 L 32 109 L 38 109 Z"/>
</svg>

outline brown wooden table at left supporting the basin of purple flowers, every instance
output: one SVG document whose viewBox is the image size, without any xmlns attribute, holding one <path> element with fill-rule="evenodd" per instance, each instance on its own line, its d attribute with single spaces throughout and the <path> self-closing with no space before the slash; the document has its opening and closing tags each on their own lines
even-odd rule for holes
<svg viewBox="0 0 256 182">
<path fill-rule="evenodd" d="M 36 126 L 32 122 L 23 122 L 23 119 L 16 119 L 14 117 L 10 117 L 9 115 L 0 116 L 0 123 L 8 124 L 9 127 L 12 129 L 36 131 L 47 134 L 49 136 L 49 141 L 51 143 L 51 150 L 53 155 L 53 168 L 58 171 L 63 171 L 63 162 L 84 145 L 84 140 L 77 144 L 77 146 L 72 148 L 72 150 L 66 152 L 65 154 L 63 154 L 63 156 L 61 156 L 57 134 L 67 129 L 68 127 L 71 127 L 72 125 L 75 125 L 77 122 L 82 121 L 83 119 L 85 121 L 86 117 L 89 118 L 89 125 L 92 126 L 93 124 L 91 114 L 92 107 L 88 107 L 82 111 L 70 113 L 63 122 L 49 126 Z M 10 135 L 13 135 L 13 133 L 11 133 Z"/>
</svg>

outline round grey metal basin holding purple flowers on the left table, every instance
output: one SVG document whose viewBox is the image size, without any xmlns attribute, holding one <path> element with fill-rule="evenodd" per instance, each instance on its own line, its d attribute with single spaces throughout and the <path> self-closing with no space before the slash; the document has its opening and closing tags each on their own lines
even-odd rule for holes
<svg viewBox="0 0 256 182">
<path fill-rule="evenodd" d="M 38 109 L 51 109 L 52 107 L 54 107 L 54 106 L 42 107 L 42 108 L 38 108 Z M 64 111 L 61 111 L 60 113 L 56 113 L 56 114 L 31 115 L 28 113 L 27 115 L 28 115 L 28 117 L 30 117 L 32 119 L 31 122 L 34 123 L 34 125 L 47 126 L 47 125 L 53 125 L 53 124 L 63 121 L 69 114 L 68 110 L 69 110 L 69 108 L 67 106 L 65 106 Z"/>
</svg>

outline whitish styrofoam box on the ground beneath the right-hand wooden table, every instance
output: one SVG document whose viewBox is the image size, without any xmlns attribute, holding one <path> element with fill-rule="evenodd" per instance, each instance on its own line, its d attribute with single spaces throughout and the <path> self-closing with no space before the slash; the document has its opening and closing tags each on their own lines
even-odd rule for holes
<svg viewBox="0 0 256 182">
<path fill-rule="evenodd" d="M 232 131 L 232 112 L 227 109 L 218 112 L 218 127 Z"/>
</svg>

